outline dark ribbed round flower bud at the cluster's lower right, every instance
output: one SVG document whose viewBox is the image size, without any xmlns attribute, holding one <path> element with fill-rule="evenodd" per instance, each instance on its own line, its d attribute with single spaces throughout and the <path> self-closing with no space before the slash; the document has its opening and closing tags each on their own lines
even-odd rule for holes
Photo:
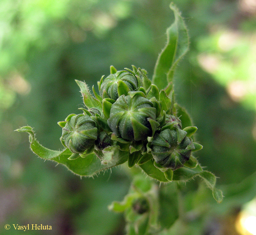
<svg viewBox="0 0 256 235">
<path fill-rule="evenodd" d="M 192 139 L 179 128 L 174 130 L 166 128 L 156 133 L 151 142 L 151 154 L 155 162 L 173 171 L 183 167 L 183 164 L 189 160 L 193 149 L 195 147 Z"/>
</svg>

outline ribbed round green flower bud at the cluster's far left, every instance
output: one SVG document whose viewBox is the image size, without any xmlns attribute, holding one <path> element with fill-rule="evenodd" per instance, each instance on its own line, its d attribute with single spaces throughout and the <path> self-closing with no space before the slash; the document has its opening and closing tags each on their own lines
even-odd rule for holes
<svg viewBox="0 0 256 235">
<path fill-rule="evenodd" d="M 61 143 L 73 153 L 83 153 L 91 149 L 97 139 L 98 131 L 95 122 L 89 115 L 69 115 L 62 128 Z"/>
</svg>

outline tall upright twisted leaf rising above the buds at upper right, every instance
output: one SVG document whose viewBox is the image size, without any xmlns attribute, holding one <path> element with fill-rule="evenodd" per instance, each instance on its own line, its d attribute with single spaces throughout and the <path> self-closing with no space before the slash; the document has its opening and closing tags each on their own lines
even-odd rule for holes
<svg viewBox="0 0 256 235">
<path fill-rule="evenodd" d="M 175 21 L 167 28 L 167 43 L 159 54 L 152 83 L 159 89 L 164 89 L 173 79 L 173 74 L 178 62 L 188 51 L 188 31 L 179 10 L 170 4 Z"/>
</svg>

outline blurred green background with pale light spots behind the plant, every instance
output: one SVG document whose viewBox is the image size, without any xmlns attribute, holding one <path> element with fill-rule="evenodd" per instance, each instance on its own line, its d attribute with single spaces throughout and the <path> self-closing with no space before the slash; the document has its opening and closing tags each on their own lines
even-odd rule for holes
<svg viewBox="0 0 256 235">
<path fill-rule="evenodd" d="M 173 2 L 190 35 L 190 50 L 175 75 L 176 101 L 198 127 L 204 148 L 197 157 L 220 177 L 225 198 L 217 205 L 205 186 L 182 185 L 188 219 L 178 221 L 172 234 L 239 234 L 237 215 L 256 196 L 256 2 Z M 91 87 L 110 65 L 121 70 L 132 64 L 151 78 L 174 19 L 169 4 L 0 1 L 0 234 L 14 234 L 5 224 L 52 226 L 26 231 L 33 235 L 124 234 L 123 216 L 107 205 L 128 191 L 125 166 L 80 179 L 37 158 L 28 136 L 14 130 L 30 125 L 41 144 L 61 149 L 57 122 L 83 107 L 74 79 Z"/>
</svg>

